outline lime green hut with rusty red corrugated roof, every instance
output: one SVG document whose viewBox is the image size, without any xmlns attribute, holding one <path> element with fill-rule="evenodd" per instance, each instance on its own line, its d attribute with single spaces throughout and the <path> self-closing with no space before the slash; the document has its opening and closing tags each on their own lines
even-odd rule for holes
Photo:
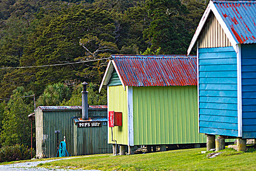
<svg viewBox="0 0 256 171">
<path fill-rule="evenodd" d="M 122 113 L 122 126 L 109 127 L 108 143 L 129 153 L 138 145 L 204 143 L 196 66 L 195 56 L 112 55 L 100 88 L 107 85 L 108 111 Z"/>
</svg>

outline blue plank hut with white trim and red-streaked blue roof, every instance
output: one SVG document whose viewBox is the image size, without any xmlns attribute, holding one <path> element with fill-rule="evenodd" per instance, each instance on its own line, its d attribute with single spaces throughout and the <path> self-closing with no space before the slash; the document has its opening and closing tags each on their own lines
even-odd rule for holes
<svg viewBox="0 0 256 171">
<path fill-rule="evenodd" d="M 210 1 L 194 46 L 199 132 L 256 138 L 256 0 Z"/>
</svg>

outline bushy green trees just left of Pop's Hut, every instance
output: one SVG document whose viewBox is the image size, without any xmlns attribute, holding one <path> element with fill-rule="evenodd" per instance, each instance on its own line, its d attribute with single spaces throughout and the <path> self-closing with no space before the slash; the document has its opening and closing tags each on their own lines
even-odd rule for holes
<svg viewBox="0 0 256 171">
<path fill-rule="evenodd" d="M 33 95 L 33 92 L 24 91 L 22 86 L 17 87 L 13 91 L 12 98 L 14 99 L 10 99 L 8 101 L 1 120 L 1 146 L 10 146 L 13 144 L 24 144 L 30 146 L 31 123 L 27 116 L 34 110 L 33 97 L 17 98 L 28 95 Z M 35 126 L 33 129 L 35 131 Z"/>
</svg>

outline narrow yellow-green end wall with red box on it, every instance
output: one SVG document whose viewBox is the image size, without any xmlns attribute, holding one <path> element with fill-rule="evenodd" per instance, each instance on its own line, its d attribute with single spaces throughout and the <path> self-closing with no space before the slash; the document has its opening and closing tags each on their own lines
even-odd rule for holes
<svg viewBox="0 0 256 171">
<path fill-rule="evenodd" d="M 128 89 L 126 86 L 125 89 Z M 113 139 L 117 144 L 128 145 L 128 108 L 127 108 L 127 91 L 122 85 L 109 86 L 109 111 L 122 112 L 122 126 L 113 128 Z M 109 142 L 112 142 L 111 128 L 108 131 Z"/>
</svg>

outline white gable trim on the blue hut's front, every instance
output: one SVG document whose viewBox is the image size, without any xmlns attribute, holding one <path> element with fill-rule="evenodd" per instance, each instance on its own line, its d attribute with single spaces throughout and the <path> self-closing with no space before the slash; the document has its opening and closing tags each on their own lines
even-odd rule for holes
<svg viewBox="0 0 256 171">
<path fill-rule="evenodd" d="M 203 17 L 202 19 L 200 20 L 198 26 L 197 26 L 197 30 L 196 30 L 196 33 L 194 34 L 193 38 L 192 38 L 192 41 L 188 47 L 188 55 L 190 54 L 192 48 L 194 47 L 195 43 L 197 42 L 197 39 L 198 39 L 198 36 L 200 34 L 200 32 L 202 31 L 202 28 L 210 14 L 210 12 L 213 12 L 217 21 L 219 22 L 220 26 L 222 27 L 222 29 L 224 30 L 227 38 L 229 39 L 230 43 L 232 44 L 233 48 L 235 49 L 235 51 L 237 52 L 237 47 L 236 47 L 236 41 L 234 39 L 234 37 L 232 36 L 231 32 L 229 31 L 226 23 L 223 21 L 223 19 L 221 18 L 220 14 L 218 13 L 217 11 L 217 8 L 215 7 L 213 1 L 210 1 L 204 14 L 203 14 Z"/>
</svg>

